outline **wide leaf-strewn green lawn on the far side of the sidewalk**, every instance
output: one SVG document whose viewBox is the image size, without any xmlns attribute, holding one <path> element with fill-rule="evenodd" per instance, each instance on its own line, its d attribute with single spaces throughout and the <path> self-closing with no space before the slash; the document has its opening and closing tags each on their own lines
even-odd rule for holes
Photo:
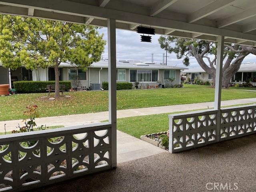
<svg viewBox="0 0 256 192">
<path fill-rule="evenodd" d="M 108 110 L 108 91 L 67 92 L 71 99 L 42 100 L 47 93 L 16 94 L 0 97 L 0 120 L 22 119 L 30 104 L 38 105 L 40 117 L 81 114 Z M 254 98 L 255 92 L 223 89 L 222 100 Z M 214 88 L 186 85 L 184 88 L 118 90 L 117 109 L 144 108 L 214 101 Z"/>
</svg>

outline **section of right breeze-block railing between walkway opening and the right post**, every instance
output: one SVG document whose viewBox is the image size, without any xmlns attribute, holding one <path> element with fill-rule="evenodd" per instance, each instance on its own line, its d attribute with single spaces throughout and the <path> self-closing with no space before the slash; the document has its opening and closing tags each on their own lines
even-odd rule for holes
<svg viewBox="0 0 256 192">
<path fill-rule="evenodd" d="M 178 152 L 216 142 L 218 110 L 169 115 L 169 151 Z"/>
</svg>

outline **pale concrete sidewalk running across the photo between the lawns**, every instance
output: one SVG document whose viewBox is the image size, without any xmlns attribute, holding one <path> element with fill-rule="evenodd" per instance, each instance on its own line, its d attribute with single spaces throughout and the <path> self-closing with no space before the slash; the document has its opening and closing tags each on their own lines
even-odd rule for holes
<svg viewBox="0 0 256 192">
<path fill-rule="evenodd" d="M 256 102 L 256 98 L 248 99 L 237 99 L 237 100 L 227 100 L 222 101 L 222 106 L 230 106 L 237 104 L 247 104 Z M 195 103 L 195 104 L 183 104 L 183 105 L 172 105 L 172 106 L 160 106 L 160 107 L 149 107 L 149 108 L 138 108 L 138 109 L 125 109 L 117 111 L 117 118 L 161 114 L 161 113 L 172 113 L 181 112 L 189 110 L 200 110 L 205 108 L 211 108 L 214 106 L 214 102 L 205 103 Z M 46 125 L 46 126 L 74 126 L 81 124 L 90 124 L 93 122 L 100 122 L 108 120 L 108 111 L 97 112 L 97 113 L 87 113 L 87 114 L 75 114 L 75 115 L 63 115 L 63 116 L 53 116 L 53 117 L 43 117 L 36 119 L 36 124 Z M 4 131 L 4 124 L 6 124 L 6 131 L 11 131 L 16 129 L 16 126 L 23 124 L 22 120 L 9 120 L 0 121 L 0 132 Z"/>
</svg>

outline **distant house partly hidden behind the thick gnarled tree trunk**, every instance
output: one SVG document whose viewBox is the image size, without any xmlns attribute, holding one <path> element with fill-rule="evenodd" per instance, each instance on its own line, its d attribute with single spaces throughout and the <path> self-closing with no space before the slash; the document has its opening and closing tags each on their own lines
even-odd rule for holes
<svg viewBox="0 0 256 192">
<path fill-rule="evenodd" d="M 212 76 L 206 73 L 201 67 L 186 69 L 182 71 L 182 74 L 186 74 L 186 78 L 190 78 L 191 81 L 194 81 L 196 77 L 204 81 L 212 80 Z M 230 79 L 232 83 L 243 83 L 247 81 L 256 85 L 256 63 L 241 64 L 238 72 Z"/>
</svg>

